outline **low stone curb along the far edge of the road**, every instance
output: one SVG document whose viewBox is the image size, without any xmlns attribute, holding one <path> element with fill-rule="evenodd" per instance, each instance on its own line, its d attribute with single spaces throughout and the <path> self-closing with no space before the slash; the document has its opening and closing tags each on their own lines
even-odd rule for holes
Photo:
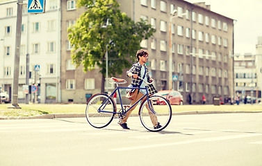
<svg viewBox="0 0 262 166">
<path fill-rule="evenodd" d="M 172 116 L 212 114 L 212 113 L 262 113 L 262 111 L 183 111 L 172 113 Z M 130 116 L 138 116 L 131 114 Z M 26 120 L 26 119 L 55 119 L 55 118 L 85 118 L 85 113 L 50 113 L 40 116 L 0 117 L 0 120 Z"/>
</svg>

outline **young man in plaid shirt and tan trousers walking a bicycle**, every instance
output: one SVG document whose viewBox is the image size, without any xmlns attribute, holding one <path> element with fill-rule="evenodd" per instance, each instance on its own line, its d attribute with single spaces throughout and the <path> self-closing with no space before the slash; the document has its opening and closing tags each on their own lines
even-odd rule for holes
<svg viewBox="0 0 262 166">
<path fill-rule="evenodd" d="M 143 50 L 143 49 L 138 50 L 138 52 L 136 53 L 136 58 L 137 58 L 138 63 L 133 64 L 131 69 L 126 72 L 128 77 L 132 77 L 131 85 L 133 87 L 139 87 L 140 86 L 140 88 L 145 88 L 145 86 L 147 86 L 149 95 L 153 95 L 154 93 L 157 92 L 156 89 L 154 88 L 153 84 L 150 84 L 150 85 L 145 84 L 145 82 L 154 81 L 152 78 L 149 78 L 148 68 L 145 65 L 145 63 L 147 62 L 147 59 L 148 59 L 147 50 Z M 145 77 L 144 77 L 144 75 L 145 75 Z M 145 82 L 143 82 L 143 80 L 138 78 L 138 77 L 144 77 Z M 132 106 L 134 103 L 136 103 L 146 93 L 147 93 L 147 91 L 145 89 L 140 89 L 139 92 L 138 92 L 138 95 L 136 96 L 136 98 L 134 100 L 132 100 L 130 106 Z M 144 99 L 142 99 L 142 100 L 144 100 Z M 120 126 L 123 127 L 123 129 L 129 129 L 129 127 L 127 127 L 127 124 L 126 124 L 126 120 L 129 118 L 130 113 L 133 111 L 133 109 L 136 108 L 136 106 L 137 106 L 137 104 L 132 109 L 130 109 L 126 113 L 126 117 L 123 118 L 122 121 L 120 121 Z M 162 127 L 160 125 L 160 123 L 158 122 L 156 116 L 152 113 L 152 111 L 149 110 L 148 104 L 146 104 L 146 107 L 149 111 L 149 115 L 150 115 L 150 118 L 152 120 L 152 124 L 154 125 L 154 128 L 158 129 L 158 128 Z"/>
</svg>

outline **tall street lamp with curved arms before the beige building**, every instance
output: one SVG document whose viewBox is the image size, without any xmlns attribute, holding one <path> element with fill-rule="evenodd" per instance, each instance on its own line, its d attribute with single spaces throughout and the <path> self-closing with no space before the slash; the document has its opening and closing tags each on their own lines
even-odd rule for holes
<svg viewBox="0 0 262 166">
<path fill-rule="evenodd" d="M 183 15 L 186 15 L 186 13 L 183 13 L 181 15 L 174 15 L 175 13 L 177 12 L 177 10 L 173 10 L 171 12 L 171 16 L 170 16 L 170 20 L 169 20 L 169 89 L 171 90 L 172 89 L 172 83 L 173 83 L 173 80 L 172 80 L 172 69 L 173 69 L 173 55 L 172 55 L 172 41 L 173 41 L 173 37 L 172 37 L 172 19 L 174 19 L 175 17 L 180 17 L 180 16 L 183 16 Z"/>
</svg>

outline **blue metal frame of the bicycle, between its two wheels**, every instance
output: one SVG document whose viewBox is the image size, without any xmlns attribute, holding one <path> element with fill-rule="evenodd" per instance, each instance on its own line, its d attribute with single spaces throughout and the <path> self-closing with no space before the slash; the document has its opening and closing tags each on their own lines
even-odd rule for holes
<svg viewBox="0 0 262 166">
<path fill-rule="evenodd" d="M 140 102 L 143 98 L 145 98 L 145 96 L 147 96 L 147 103 L 149 105 L 149 109 L 150 111 L 152 111 L 152 113 L 156 114 L 156 111 L 154 111 L 154 109 L 152 109 L 152 102 L 149 102 L 148 100 L 148 89 L 147 86 L 145 86 L 145 88 L 136 88 L 136 87 L 120 87 L 117 84 L 117 88 L 113 91 L 113 93 L 111 95 L 108 96 L 108 98 L 106 99 L 106 101 L 101 104 L 101 107 L 99 107 L 99 112 L 104 112 L 104 113 L 114 113 L 113 111 L 104 111 L 104 107 L 106 107 L 106 104 L 108 102 L 109 98 L 112 98 L 114 93 L 118 93 L 119 97 L 120 97 L 120 105 L 121 105 L 121 109 L 124 110 L 123 104 L 122 104 L 122 98 L 121 98 L 121 94 L 120 94 L 120 89 L 145 89 L 147 91 L 147 93 L 145 95 L 142 96 L 142 98 L 140 98 L 136 103 L 134 103 L 131 107 L 129 107 L 129 109 L 126 110 L 126 112 L 128 112 L 131 108 L 135 107 L 136 104 L 138 104 L 138 102 Z M 119 112 L 117 112 L 117 114 L 120 114 Z"/>
</svg>

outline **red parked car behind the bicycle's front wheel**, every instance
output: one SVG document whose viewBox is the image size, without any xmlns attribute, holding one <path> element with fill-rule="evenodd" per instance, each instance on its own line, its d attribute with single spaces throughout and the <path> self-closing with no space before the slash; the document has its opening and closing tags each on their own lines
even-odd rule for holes
<svg viewBox="0 0 262 166">
<path fill-rule="evenodd" d="M 163 90 L 158 91 L 155 95 L 160 95 L 167 99 L 171 105 L 183 105 L 183 95 L 179 91 L 174 90 Z M 156 102 L 156 104 L 161 104 L 160 101 Z"/>
</svg>

